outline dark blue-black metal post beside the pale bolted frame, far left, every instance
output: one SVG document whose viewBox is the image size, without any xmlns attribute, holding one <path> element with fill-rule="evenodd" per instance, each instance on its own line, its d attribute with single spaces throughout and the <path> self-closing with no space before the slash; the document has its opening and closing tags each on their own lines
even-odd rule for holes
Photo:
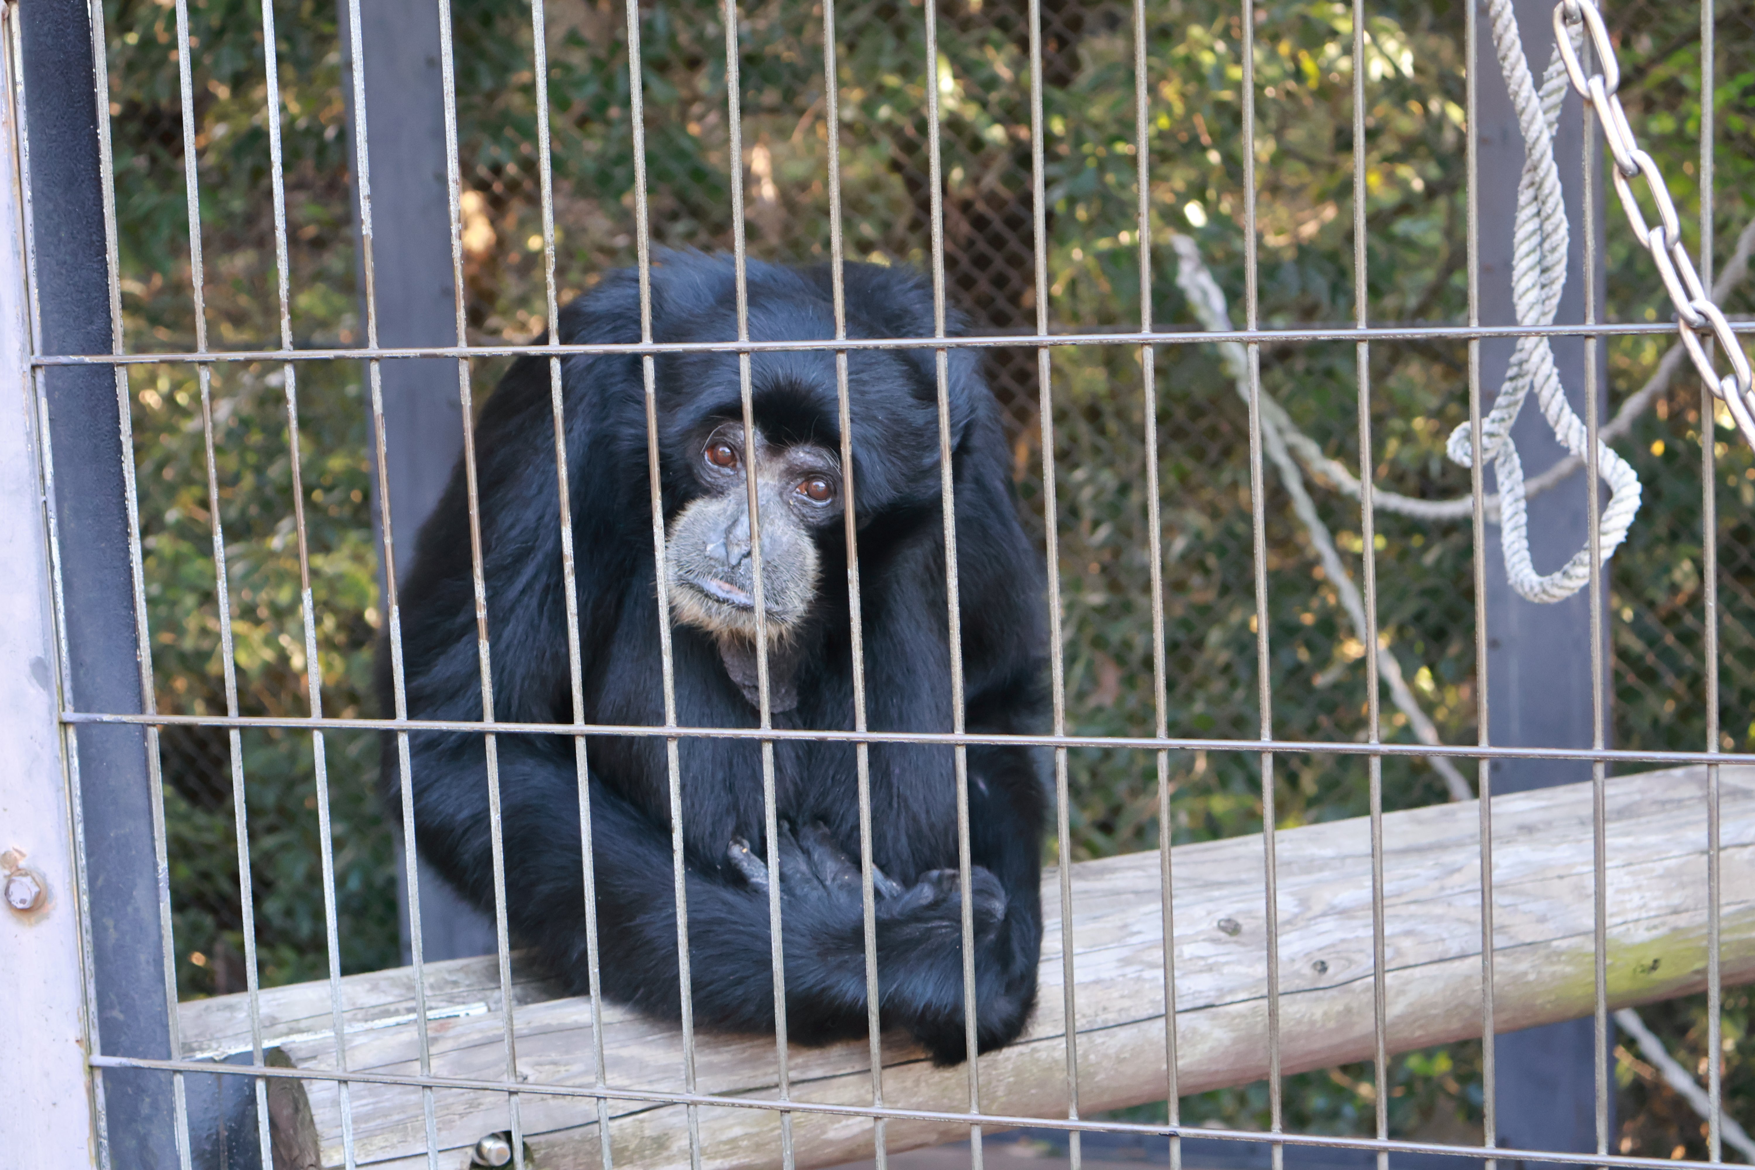
<svg viewBox="0 0 1755 1170">
<path fill-rule="evenodd" d="M 23 40 L 39 351 L 112 347 L 104 179 L 91 19 L 84 0 L 18 7 Z M 61 570 L 63 700 L 79 710 L 142 712 L 128 488 L 116 375 L 54 368 L 42 379 L 54 465 Z M 40 495 L 40 493 L 39 493 Z M 104 1054 L 168 1058 L 170 1012 L 153 824 L 156 793 L 139 726 L 79 728 L 77 774 L 90 891 L 93 1040 Z M 174 1166 L 170 1077 L 104 1077 L 111 1156 Z M 58 1161 L 58 1159 L 54 1159 Z"/>
</svg>

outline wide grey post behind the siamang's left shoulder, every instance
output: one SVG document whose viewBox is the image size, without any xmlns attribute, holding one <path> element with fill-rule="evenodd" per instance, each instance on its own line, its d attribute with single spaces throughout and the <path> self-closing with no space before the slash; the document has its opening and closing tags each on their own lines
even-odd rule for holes
<svg viewBox="0 0 1755 1170">
<path fill-rule="evenodd" d="M 446 0 L 441 0 L 446 2 Z M 439 68 L 439 14 L 430 0 L 362 0 L 360 53 L 347 44 L 347 4 L 340 0 L 342 93 L 347 135 L 356 128 L 353 74 L 365 70 L 367 156 L 370 160 L 377 335 L 384 346 L 455 346 L 451 212 L 446 191 L 444 84 Z M 377 126 L 379 133 L 370 133 Z M 349 165 L 355 153 L 347 151 Z M 355 175 L 355 182 L 360 175 Z M 358 207 L 356 207 L 358 228 Z M 360 288 L 365 288 L 362 279 Z M 362 293 L 363 296 L 363 293 Z M 365 319 L 365 305 L 360 309 Z M 439 503 L 463 449 L 456 365 L 448 358 L 383 363 L 384 432 L 390 475 L 372 472 L 372 526 L 377 491 L 390 491 L 390 523 L 398 565 L 412 563 L 414 535 Z M 383 533 L 376 533 L 383 539 Z M 379 570 L 383 572 L 383 570 Z M 426 861 L 419 867 L 421 949 L 426 960 L 493 954 L 493 919 L 469 905 Z M 409 958 L 407 889 L 397 867 L 402 954 Z"/>
</svg>

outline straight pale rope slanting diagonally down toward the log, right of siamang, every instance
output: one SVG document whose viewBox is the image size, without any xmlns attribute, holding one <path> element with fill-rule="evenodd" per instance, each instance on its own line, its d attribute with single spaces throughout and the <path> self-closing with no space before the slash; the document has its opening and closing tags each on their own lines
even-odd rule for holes
<svg viewBox="0 0 1755 1170">
<path fill-rule="evenodd" d="M 1225 293 L 1220 289 L 1218 281 L 1207 270 L 1206 263 L 1200 260 L 1200 246 L 1193 239 L 1172 233 L 1171 246 L 1176 249 L 1176 286 L 1183 289 L 1183 296 L 1188 298 L 1188 305 L 1193 309 L 1195 317 L 1207 332 L 1225 332 L 1230 330 L 1230 310 L 1225 303 Z M 1239 342 L 1220 342 L 1220 360 L 1230 372 L 1232 384 L 1237 388 L 1237 395 L 1248 402 L 1250 400 L 1250 363 Z M 1358 639 L 1365 639 L 1365 605 L 1358 596 L 1358 586 L 1346 574 L 1346 567 L 1341 563 L 1341 554 L 1334 547 L 1334 537 L 1329 535 L 1329 524 L 1322 521 L 1316 514 L 1316 505 L 1311 502 L 1309 491 L 1304 489 L 1304 474 L 1299 472 L 1299 465 L 1292 460 L 1286 444 L 1292 435 L 1299 435 L 1297 428 L 1292 426 L 1292 419 L 1286 417 L 1285 407 L 1260 395 L 1262 407 L 1262 447 L 1267 453 L 1269 461 L 1278 468 L 1279 479 L 1286 486 L 1286 495 L 1292 496 L 1292 510 L 1302 521 L 1304 530 L 1309 533 L 1311 544 L 1316 547 L 1316 558 L 1322 561 L 1323 574 L 1334 582 L 1336 593 L 1341 595 L 1341 607 L 1353 623 L 1353 630 Z M 1304 442 L 1309 442 L 1304 439 Z M 1408 688 L 1408 679 L 1402 675 L 1402 663 L 1390 651 L 1388 646 L 1367 647 L 1367 651 L 1378 656 L 1378 674 L 1390 688 L 1390 702 L 1395 709 L 1408 717 L 1408 726 L 1413 728 L 1415 738 L 1422 744 L 1437 746 L 1437 726 L 1434 726 L 1430 716 L 1420 707 L 1420 700 Z M 1444 788 L 1451 800 L 1472 800 L 1474 789 L 1469 788 L 1469 781 L 1462 777 L 1444 756 L 1427 756 L 1427 763 L 1432 770 L 1444 777 Z"/>
</svg>

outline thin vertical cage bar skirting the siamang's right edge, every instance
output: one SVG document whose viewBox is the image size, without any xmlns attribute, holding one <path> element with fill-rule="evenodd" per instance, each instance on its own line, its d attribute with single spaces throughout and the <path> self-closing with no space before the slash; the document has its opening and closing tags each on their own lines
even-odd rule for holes
<svg viewBox="0 0 1755 1170">
<path fill-rule="evenodd" d="M 1035 332 L 1048 333 L 1048 193 L 1042 165 L 1042 2 L 1030 0 L 1030 219 L 1035 251 Z M 1048 554 L 1048 665 L 1055 735 L 1067 733 L 1067 670 L 1060 612 L 1060 503 L 1055 482 L 1055 391 L 1049 349 L 1035 349 L 1037 419 L 1042 428 L 1042 531 Z M 1065 1016 L 1067 1119 L 1079 1117 L 1079 1012 L 1072 945 L 1072 798 L 1067 749 L 1055 747 L 1055 844 L 1060 863 L 1060 1009 Z M 1067 1133 L 1072 1170 L 1081 1165 L 1079 1131 Z"/>
</svg>

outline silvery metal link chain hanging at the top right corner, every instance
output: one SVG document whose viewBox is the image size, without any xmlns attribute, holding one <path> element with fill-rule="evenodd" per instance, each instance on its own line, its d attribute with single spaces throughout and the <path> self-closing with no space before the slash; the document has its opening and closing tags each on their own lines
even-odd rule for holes
<svg viewBox="0 0 1755 1170">
<path fill-rule="evenodd" d="M 1590 75 L 1585 74 L 1585 67 L 1578 60 L 1578 51 L 1572 47 L 1572 39 L 1565 30 L 1567 25 L 1578 25 L 1580 21 L 1585 23 L 1585 30 L 1590 33 L 1590 46 L 1595 49 L 1597 63 L 1601 65 L 1599 72 Z M 1694 360 L 1694 368 L 1701 372 L 1701 377 L 1713 393 L 1730 409 L 1730 417 L 1736 419 L 1743 439 L 1755 447 L 1755 389 L 1751 389 L 1748 354 L 1743 353 L 1743 346 L 1730 330 L 1730 321 L 1725 319 L 1723 310 L 1706 295 L 1701 274 L 1681 246 L 1681 219 L 1676 216 L 1676 202 L 1669 196 L 1669 188 L 1664 184 L 1664 175 L 1658 172 L 1657 161 L 1639 149 L 1632 126 L 1627 125 L 1627 111 L 1622 109 L 1622 100 L 1615 93 L 1622 84 L 1622 67 L 1615 60 L 1615 44 L 1609 40 L 1608 25 L 1602 23 L 1602 11 L 1597 9 L 1594 0 L 1560 0 L 1553 9 L 1553 32 L 1572 88 L 1597 111 L 1602 139 L 1608 142 L 1609 156 L 1615 161 L 1609 172 L 1615 177 L 1615 193 L 1622 200 L 1622 210 L 1627 212 L 1627 223 L 1632 225 L 1634 235 L 1651 253 L 1658 275 L 1664 277 L 1664 288 L 1676 305 L 1676 332 L 1681 335 L 1681 346 L 1688 351 L 1688 358 Z M 1713 98 L 1711 95 L 1702 95 L 1702 100 L 1711 102 Z M 1639 200 L 1634 198 L 1632 181 L 1639 175 L 1644 177 L 1646 189 L 1651 191 L 1651 202 L 1657 203 L 1658 223 L 1650 226 L 1646 225 L 1644 212 L 1639 210 Z M 1730 374 L 1723 377 L 1713 367 L 1713 358 L 1701 342 L 1699 330 L 1704 328 L 1711 330 L 1718 346 L 1725 351 L 1725 360 L 1730 363 Z"/>
</svg>

